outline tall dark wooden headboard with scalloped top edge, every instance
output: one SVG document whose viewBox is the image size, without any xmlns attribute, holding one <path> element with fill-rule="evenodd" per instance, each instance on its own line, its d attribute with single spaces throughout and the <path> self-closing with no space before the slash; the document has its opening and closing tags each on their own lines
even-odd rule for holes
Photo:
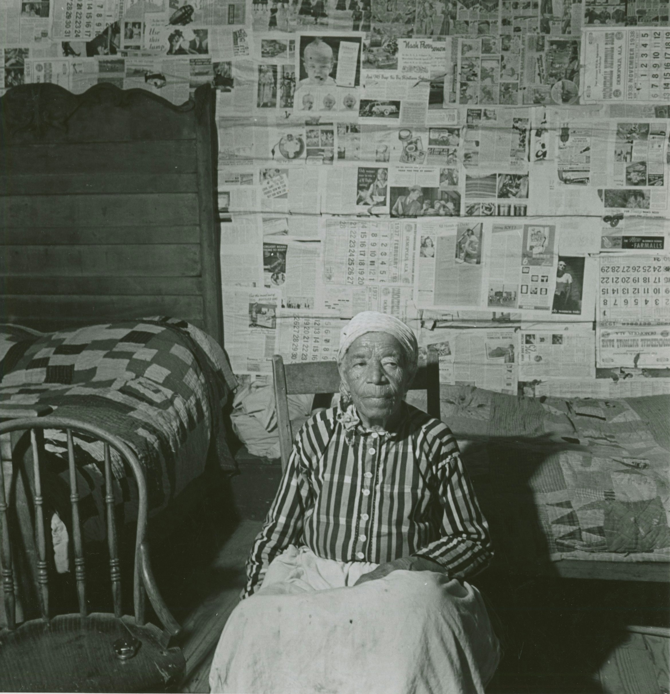
<svg viewBox="0 0 670 694">
<path fill-rule="evenodd" d="M 51 84 L 0 99 L 0 322 L 38 330 L 168 315 L 223 344 L 209 85 Z"/>
</svg>

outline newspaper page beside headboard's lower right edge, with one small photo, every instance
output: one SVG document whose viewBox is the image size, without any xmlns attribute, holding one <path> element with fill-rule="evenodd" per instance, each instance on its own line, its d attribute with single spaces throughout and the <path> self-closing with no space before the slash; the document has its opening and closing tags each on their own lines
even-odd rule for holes
<svg viewBox="0 0 670 694">
<path fill-rule="evenodd" d="M 224 287 L 224 347 L 234 373 L 271 373 L 279 297 L 275 291 Z"/>
</svg>

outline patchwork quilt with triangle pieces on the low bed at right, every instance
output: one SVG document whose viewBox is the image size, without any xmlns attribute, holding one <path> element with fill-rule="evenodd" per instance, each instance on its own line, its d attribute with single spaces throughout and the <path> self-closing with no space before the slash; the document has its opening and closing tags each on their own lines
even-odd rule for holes
<svg viewBox="0 0 670 694">
<path fill-rule="evenodd" d="M 499 561 L 670 561 L 670 396 L 441 400 Z"/>
</svg>

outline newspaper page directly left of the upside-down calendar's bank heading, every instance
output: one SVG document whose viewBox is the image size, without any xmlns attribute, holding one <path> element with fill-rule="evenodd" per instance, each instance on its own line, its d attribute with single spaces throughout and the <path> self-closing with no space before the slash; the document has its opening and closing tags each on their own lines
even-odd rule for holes
<svg viewBox="0 0 670 694">
<path fill-rule="evenodd" d="M 596 378 L 593 330 L 538 324 L 519 331 L 519 380 Z"/>
</svg>

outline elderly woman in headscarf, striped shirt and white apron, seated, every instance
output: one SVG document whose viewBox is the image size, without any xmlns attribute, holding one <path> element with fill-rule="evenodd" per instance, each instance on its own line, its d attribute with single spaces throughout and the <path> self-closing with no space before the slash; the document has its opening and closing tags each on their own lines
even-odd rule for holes
<svg viewBox="0 0 670 694">
<path fill-rule="evenodd" d="M 310 418 L 247 561 L 212 692 L 483 692 L 499 645 L 467 577 L 489 532 L 449 428 L 403 397 L 417 339 L 363 312 L 342 398 Z"/>
</svg>

